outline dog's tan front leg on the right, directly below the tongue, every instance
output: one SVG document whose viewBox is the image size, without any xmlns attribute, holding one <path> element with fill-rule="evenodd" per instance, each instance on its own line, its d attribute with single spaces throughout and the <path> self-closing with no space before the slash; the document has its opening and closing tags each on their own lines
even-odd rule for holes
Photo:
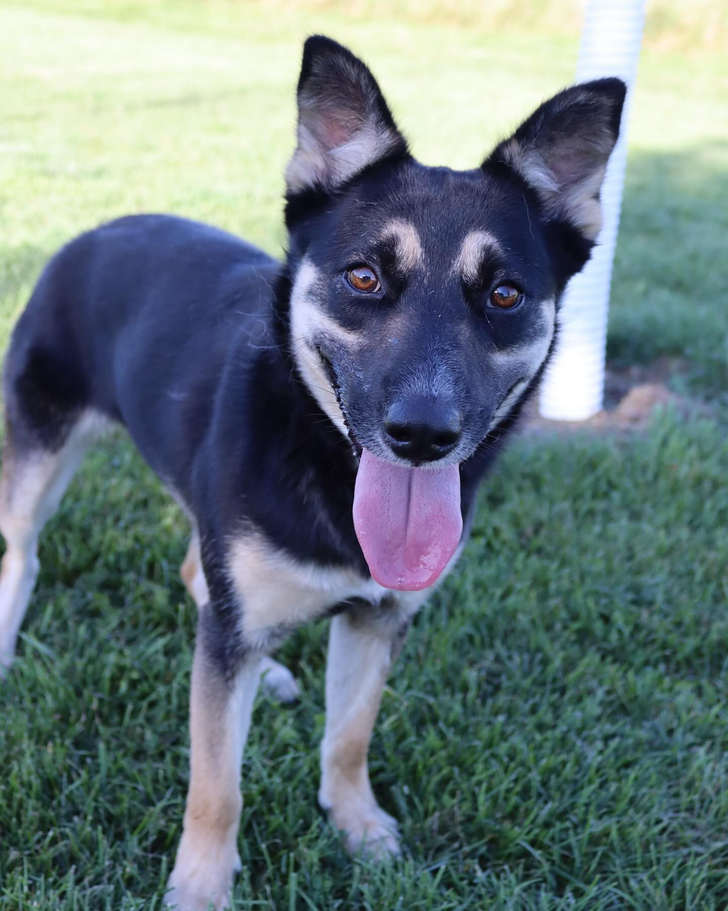
<svg viewBox="0 0 728 911">
<path fill-rule="evenodd" d="M 397 822 L 379 807 L 367 753 L 382 690 L 410 624 L 390 611 L 350 609 L 331 621 L 319 803 L 352 854 L 399 854 Z"/>
</svg>

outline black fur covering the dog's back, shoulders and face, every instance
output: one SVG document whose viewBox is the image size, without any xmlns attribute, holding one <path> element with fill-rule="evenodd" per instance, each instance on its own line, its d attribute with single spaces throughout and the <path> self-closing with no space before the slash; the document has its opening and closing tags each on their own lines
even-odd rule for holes
<svg viewBox="0 0 728 911">
<path fill-rule="evenodd" d="M 341 59 L 370 80 L 379 118 L 396 130 L 369 71 L 328 39 L 308 40 L 299 94 L 312 79 L 326 92 Z M 600 92 L 610 111 L 602 119 L 616 138 L 622 84 L 603 81 L 595 97 Z M 347 87 L 337 83 L 334 96 L 329 104 L 346 104 Z M 561 97 L 533 118 L 548 126 L 549 105 L 557 110 L 549 135 L 558 138 L 572 126 L 558 113 Z M 517 137 L 531 135 L 533 118 Z M 426 283 L 402 273 L 391 241 L 379 237 L 391 219 L 407 220 L 422 238 Z M 482 167 L 457 172 L 423 167 L 403 139 L 343 185 L 288 193 L 286 220 L 283 263 L 224 231 L 163 215 L 116 220 L 78 237 L 46 267 L 6 361 L 15 455 L 56 448 L 77 415 L 93 409 L 126 427 L 196 518 L 213 605 L 200 630 L 226 674 L 247 647 L 235 622 L 245 608 L 222 570 L 228 537 L 252 525 L 301 562 L 369 577 L 351 516 L 355 450 L 322 412 L 291 349 L 291 287 L 303 257 L 328 277 L 322 309 L 366 339 L 357 363 L 335 340 L 321 350 L 359 445 L 374 445 L 383 409 L 411 365 L 435 349 L 448 353 L 452 394 L 466 418 L 467 528 L 480 479 L 544 366 L 511 417 L 489 429 L 519 377 L 494 373 L 488 357 L 529 342 L 538 302 L 558 298 L 591 250 L 568 220 L 547 217 L 498 150 Z M 463 282 L 452 264 L 469 230 L 490 232 L 505 252 L 486 258 L 478 281 Z M 381 271 L 377 301 L 352 295 L 340 280 L 362 259 Z M 525 293 L 513 312 L 487 309 L 502 281 Z"/>
</svg>

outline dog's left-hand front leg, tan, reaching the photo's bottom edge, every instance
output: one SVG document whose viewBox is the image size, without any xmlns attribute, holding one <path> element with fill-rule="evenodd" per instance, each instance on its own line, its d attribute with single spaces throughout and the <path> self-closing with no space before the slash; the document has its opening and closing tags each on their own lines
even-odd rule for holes
<svg viewBox="0 0 728 911">
<path fill-rule="evenodd" d="M 200 610 L 190 693 L 190 781 L 184 830 L 169 877 L 167 906 L 218 911 L 229 903 L 239 869 L 237 835 L 242 797 L 239 776 L 260 656 L 223 658 L 215 608 Z M 213 630 L 212 632 L 210 630 Z"/>
</svg>

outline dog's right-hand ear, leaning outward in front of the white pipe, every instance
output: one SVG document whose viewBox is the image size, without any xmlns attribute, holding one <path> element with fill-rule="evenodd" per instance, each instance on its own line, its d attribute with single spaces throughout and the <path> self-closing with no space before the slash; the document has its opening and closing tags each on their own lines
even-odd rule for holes
<svg viewBox="0 0 728 911">
<path fill-rule="evenodd" d="M 593 241 L 602 227 L 599 194 L 626 90 L 616 78 L 567 88 L 537 108 L 485 164 L 510 165 L 536 190 L 548 218 L 570 222 Z"/>
</svg>

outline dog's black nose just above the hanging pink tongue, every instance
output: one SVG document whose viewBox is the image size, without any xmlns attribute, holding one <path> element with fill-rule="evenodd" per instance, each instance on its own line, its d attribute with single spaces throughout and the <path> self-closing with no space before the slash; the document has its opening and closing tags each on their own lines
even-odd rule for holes
<svg viewBox="0 0 728 911">
<path fill-rule="evenodd" d="M 389 405 L 384 431 L 393 453 L 412 462 L 434 462 L 460 440 L 462 415 L 451 402 L 401 398 Z"/>
</svg>

